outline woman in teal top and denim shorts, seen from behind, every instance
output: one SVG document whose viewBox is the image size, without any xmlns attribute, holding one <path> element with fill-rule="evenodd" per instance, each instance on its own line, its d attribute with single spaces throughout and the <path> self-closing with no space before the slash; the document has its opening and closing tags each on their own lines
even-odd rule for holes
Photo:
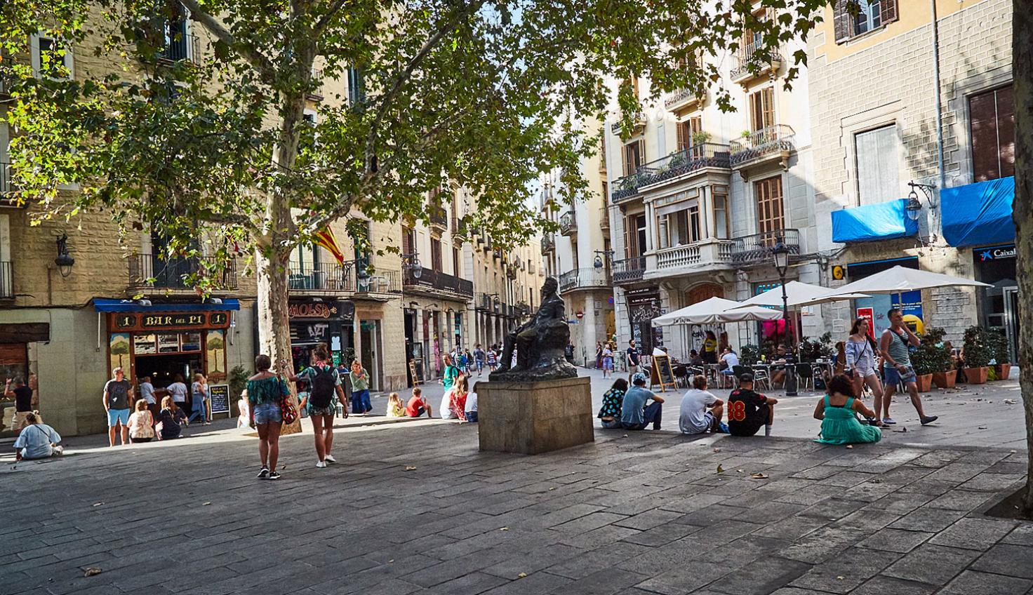
<svg viewBox="0 0 1033 595">
<path fill-rule="evenodd" d="M 261 458 L 259 479 L 279 479 L 276 462 L 280 458 L 280 426 L 283 411 L 280 403 L 290 395 L 287 383 L 269 371 L 273 362 L 262 353 L 255 357 L 257 374 L 248 378 L 248 403 L 251 405 L 251 427 L 258 429 L 258 456 Z"/>
</svg>

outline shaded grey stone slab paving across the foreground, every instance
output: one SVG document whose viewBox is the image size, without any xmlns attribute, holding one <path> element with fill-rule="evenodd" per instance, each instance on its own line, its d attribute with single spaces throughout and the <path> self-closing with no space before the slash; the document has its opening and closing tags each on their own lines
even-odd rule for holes
<svg viewBox="0 0 1033 595">
<path fill-rule="evenodd" d="M 254 478 L 255 441 L 225 420 L 115 449 L 75 438 L 17 469 L 5 456 L 0 593 L 1033 588 L 1033 524 L 980 513 L 1021 484 L 1025 451 L 598 431 L 523 457 L 478 452 L 473 425 L 350 424 L 326 469 L 311 435 L 284 437 L 279 481 Z"/>
</svg>

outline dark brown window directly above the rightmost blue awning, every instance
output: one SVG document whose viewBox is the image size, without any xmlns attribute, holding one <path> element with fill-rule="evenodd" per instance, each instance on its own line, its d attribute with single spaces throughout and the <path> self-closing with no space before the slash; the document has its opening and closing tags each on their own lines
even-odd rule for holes
<svg viewBox="0 0 1033 595">
<path fill-rule="evenodd" d="M 1015 175 L 1015 103 L 1011 86 L 969 97 L 976 182 Z"/>
</svg>

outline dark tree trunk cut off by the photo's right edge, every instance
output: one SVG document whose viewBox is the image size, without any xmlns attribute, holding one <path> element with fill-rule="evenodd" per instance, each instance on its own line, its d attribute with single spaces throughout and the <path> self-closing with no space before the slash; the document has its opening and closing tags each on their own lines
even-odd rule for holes
<svg viewBox="0 0 1033 595">
<path fill-rule="evenodd" d="M 1015 277 L 1019 281 L 1019 366 L 1026 449 L 1033 455 L 1033 14 L 1025 0 L 1012 11 L 1012 91 L 1015 100 Z M 1023 513 L 1033 515 L 1033 456 L 1026 470 Z"/>
</svg>

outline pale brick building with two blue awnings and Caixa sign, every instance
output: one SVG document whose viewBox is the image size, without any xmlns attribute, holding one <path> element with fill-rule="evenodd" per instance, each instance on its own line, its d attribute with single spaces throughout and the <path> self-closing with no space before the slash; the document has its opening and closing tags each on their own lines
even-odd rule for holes
<svg viewBox="0 0 1033 595">
<path fill-rule="evenodd" d="M 956 345 L 973 324 L 1015 344 L 1011 9 L 1006 0 L 879 0 L 856 18 L 826 9 L 808 44 L 821 280 L 899 264 L 992 285 L 824 306 L 818 317 L 837 335 L 857 316 L 882 328 L 895 306 Z M 909 183 L 924 187 L 912 193 Z"/>
</svg>

